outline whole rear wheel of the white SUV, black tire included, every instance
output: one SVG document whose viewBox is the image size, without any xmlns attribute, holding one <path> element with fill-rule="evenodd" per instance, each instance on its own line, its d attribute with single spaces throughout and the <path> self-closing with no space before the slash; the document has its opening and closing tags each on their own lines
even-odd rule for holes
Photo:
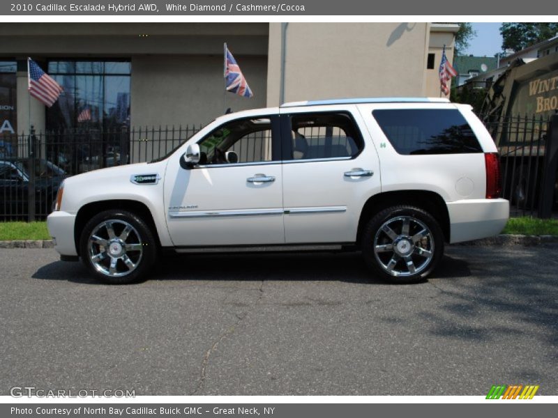
<svg viewBox="0 0 558 418">
<path fill-rule="evenodd" d="M 405 219 L 409 226 L 404 231 Z M 385 229 L 386 225 L 391 231 Z M 391 283 L 418 283 L 428 277 L 442 258 L 444 234 L 436 219 L 425 210 L 393 206 L 378 212 L 365 225 L 361 249 L 365 263 L 376 277 Z"/>
</svg>

